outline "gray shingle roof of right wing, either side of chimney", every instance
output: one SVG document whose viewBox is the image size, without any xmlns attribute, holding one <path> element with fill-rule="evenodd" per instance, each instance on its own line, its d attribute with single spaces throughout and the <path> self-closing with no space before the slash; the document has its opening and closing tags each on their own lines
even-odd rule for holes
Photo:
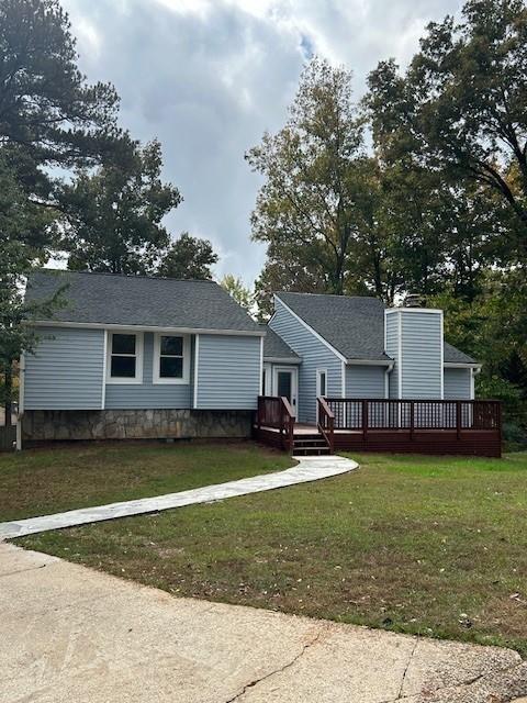
<svg viewBox="0 0 527 703">
<path fill-rule="evenodd" d="M 377 298 L 316 293 L 277 293 L 277 297 L 346 359 L 390 359 L 384 354 L 384 303 Z M 447 342 L 445 361 L 474 364 Z"/>
</svg>

